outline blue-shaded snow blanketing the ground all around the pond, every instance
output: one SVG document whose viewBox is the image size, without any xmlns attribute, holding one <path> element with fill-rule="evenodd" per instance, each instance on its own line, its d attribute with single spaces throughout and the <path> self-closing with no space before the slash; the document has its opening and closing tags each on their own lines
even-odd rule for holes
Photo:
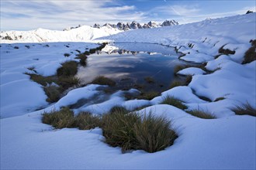
<svg viewBox="0 0 256 170">
<path fill-rule="evenodd" d="M 86 48 L 98 45 L 71 42 L 85 40 L 82 38 L 84 32 L 79 29 L 77 31 L 81 37 L 78 39 L 74 39 L 70 32 L 66 32 L 63 37 L 48 32 L 49 37 L 53 38 L 43 38 L 51 41 L 66 39 L 69 42 L 1 43 L 1 169 L 254 169 L 256 119 L 248 115 L 235 115 L 231 110 L 246 103 L 256 107 L 256 61 L 240 64 L 245 51 L 251 46 L 250 39 L 256 37 L 254 28 L 255 14 L 252 13 L 180 26 L 137 29 L 102 37 L 112 42 L 150 42 L 177 46 L 178 52 L 186 54 L 182 59 L 193 63 L 206 62 L 207 70 L 215 70 L 213 73 L 204 73 L 195 67 L 181 70 L 181 74 L 193 75 L 189 86 L 166 90 L 153 100 L 125 100 L 122 90 L 108 96 L 104 86 L 91 84 L 70 90 L 55 104 L 47 104 L 40 84 L 32 82 L 24 74 L 31 71 L 27 68 L 34 66 L 38 73 L 50 76 L 56 73 L 62 62 L 74 59 L 78 53 L 76 49 L 84 52 Z M 35 32 L 47 31 L 39 29 Z M 24 35 L 26 33 L 23 32 Z M 73 33 L 76 34 L 75 30 Z M 33 32 L 27 35 L 24 36 L 27 41 L 38 41 L 33 38 Z M 85 36 L 88 38 L 88 35 Z M 189 47 L 189 43 L 194 46 Z M 14 49 L 14 46 L 19 46 L 19 49 Z M 116 43 L 116 46 L 107 47 L 106 51 L 124 45 L 118 46 Z M 215 59 L 221 46 L 236 53 Z M 71 53 L 71 56 L 64 57 L 64 53 Z M 189 110 L 206 110 L 217 118 L 206 120 L 176 107 L 160 104 L 168 96 L 182 100 Z M 199 96 L 212 101 L 202 100 Z M 223 97 L 223 100 L 214 101 L 219 97 Z M 145 151 L 122 154 L 120 148 L 112 148 L 104 143 L 100 128 L 90 131 L 74 128 L 56 130 L 41 122 L 44 111 L 76 104 L 78 100 L 88 102 L 74 109 L 75 114 L 80 111 L 105 114 L 114 106 L 133 110 L 150 105 L 140 110 L 140 113 L 152 112 L 168 117 L 178 138 L 171 147 L 153 154 Z M 34 111 L 40 107 L 46 108 Z"/>
</svg>

